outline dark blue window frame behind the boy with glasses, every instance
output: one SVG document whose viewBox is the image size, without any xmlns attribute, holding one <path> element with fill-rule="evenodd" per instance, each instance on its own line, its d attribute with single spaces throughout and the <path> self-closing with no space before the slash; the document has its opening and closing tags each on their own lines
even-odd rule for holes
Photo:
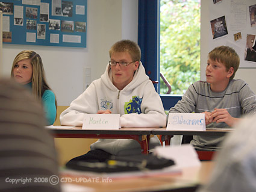
<svg viewBox="0 0 256 192">
<path fill-rule="evenodd" d="M 146 74 L 160 93 L 160 0 L 138 0 L 138 45 Z M 165 110 L 169 110 L 182 95 L 160 94 Z"/>
</svg>

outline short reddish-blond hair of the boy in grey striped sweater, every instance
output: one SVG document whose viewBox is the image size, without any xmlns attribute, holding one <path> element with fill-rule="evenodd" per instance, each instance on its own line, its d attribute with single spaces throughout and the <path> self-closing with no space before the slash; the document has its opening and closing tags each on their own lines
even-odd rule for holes
<svg viewBox="0 0 256 192">
<path fill-rule="evenodd" d="M 229 78 L 229 80 L 232 80 L 234 78 L 237 69 L 239 68 L 240 58 L 233 48 L 230 48 L 229 46 L 218 46 L 214 48 L 211 52 L 209 52 L 208 58 L 210 58 L 213 61 L 219 61 L 223 63 L 227 71 L 231 67 L 233 67 L 234 73 Z"/>
</svg>

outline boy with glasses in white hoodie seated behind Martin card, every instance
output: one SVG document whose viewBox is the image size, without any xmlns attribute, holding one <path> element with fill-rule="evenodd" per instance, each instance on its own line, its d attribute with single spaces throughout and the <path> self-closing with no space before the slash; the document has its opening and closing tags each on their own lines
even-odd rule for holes
<svg viewBox="0 0 256 192">
<path fill-rule="evenodd" d="M 61 125 L 82 126 L 84 114 L 120 114 L 122 127 L 166 126 L 160 96 L 140 62 L 140 48 L 130 40 L 116 42 L 109 51 L 105 73 L 96 79 L 60 115 Z M 150 148 L 160 146 L 157 136 Z M 128 139 L 99 139 L 87 154 L 77 157 L 104 161 L 109 155 L 141 153 L 140 144 Z M 72 160 L 71 160 L 72 161 Z"/>
</svg>

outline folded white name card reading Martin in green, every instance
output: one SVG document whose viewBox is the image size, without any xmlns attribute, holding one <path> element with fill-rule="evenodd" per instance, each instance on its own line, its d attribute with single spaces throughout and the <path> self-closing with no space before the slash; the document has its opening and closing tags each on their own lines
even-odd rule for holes
<svg viewBox="0 0 256 192">
<path fill-rule="evenodd" d="M 82 129 L 119 129 L 120 114 L 85 114 Z"/>
</svg>

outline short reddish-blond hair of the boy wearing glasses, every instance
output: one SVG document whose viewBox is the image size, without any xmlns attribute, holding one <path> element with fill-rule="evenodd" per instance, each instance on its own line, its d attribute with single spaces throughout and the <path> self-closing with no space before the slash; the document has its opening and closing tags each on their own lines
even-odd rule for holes
<svg viewBox="0 0 256 192">
<path fill-rule="evenodd" d="M 141 51 L 139 45 L 131 40 L 120 40 L 111 46 L 109 54 L 110 57 L 115 52 L 128 52 L 133 61 L 140 61 Z"/>
</svg>

